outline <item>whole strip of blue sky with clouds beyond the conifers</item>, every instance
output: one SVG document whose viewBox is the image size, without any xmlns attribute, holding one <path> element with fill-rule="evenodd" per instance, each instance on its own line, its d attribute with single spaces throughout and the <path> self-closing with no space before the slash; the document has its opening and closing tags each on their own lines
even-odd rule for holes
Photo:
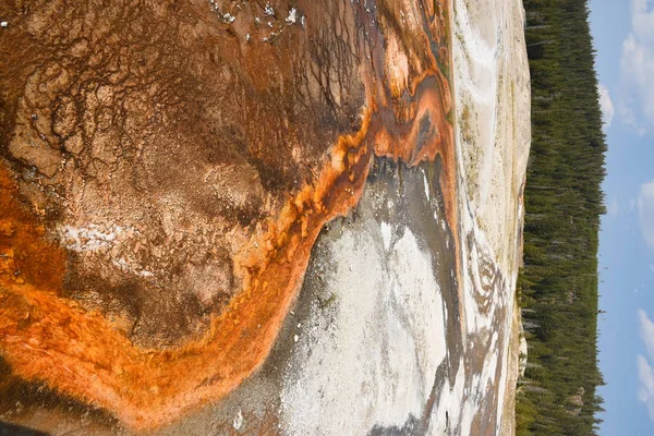
<svg viewBox="0 0 654 436">
<path fill-rule="evenodd" d="M 591 0 L 608 141 L 602 435 L 654 435 L 654 0 Z"/>
</svg>

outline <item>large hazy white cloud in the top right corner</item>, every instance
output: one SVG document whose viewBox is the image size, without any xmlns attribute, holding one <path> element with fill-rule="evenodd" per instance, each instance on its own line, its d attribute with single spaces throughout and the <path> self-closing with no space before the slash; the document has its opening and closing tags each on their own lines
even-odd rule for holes
<svg viewBox="0 0 654 436">
<path fill-rule="evenodd" d="M 639 134 L 654 132 L 654 8 L 652 0 L 631 0 L 631 32 L 622 43 L 622 81 L 618 111 Z"/>
</svg>

